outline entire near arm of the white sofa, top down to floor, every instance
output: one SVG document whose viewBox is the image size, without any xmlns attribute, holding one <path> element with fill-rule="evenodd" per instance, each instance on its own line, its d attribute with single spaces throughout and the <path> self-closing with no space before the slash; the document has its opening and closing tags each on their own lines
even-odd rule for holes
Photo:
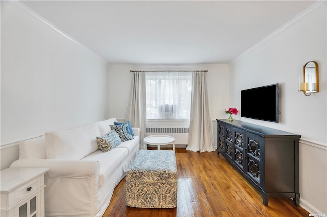
<svg viewBox="0 0 327 217">
<path fill-rule="evenodd" d="M 21 159 L 11 168 L 49 168 L 44 175 L 45 216 L 96 216 L 100 206 L 98 161 Z"/>
</svg>

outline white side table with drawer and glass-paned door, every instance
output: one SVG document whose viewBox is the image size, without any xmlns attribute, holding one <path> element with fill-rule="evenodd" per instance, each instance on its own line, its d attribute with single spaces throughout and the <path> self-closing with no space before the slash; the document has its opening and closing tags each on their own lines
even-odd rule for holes
<svg viewBox="0 0 327 217">
<path fill-rule="evenodd" d="M 0 215 L 43 217 L 44 174 L 48 170 L 48 168 L 7 168 L 0 171 Z"/>
</svg>

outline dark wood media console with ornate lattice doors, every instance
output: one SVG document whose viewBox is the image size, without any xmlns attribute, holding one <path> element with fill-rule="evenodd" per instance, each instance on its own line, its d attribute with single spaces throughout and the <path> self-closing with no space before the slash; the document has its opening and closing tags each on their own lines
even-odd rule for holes
<svg viewBox="0 0 327 217">
<path fill-rule="evenodd" d="M 243 121 L 217 120 L 217 150 L 261 194 L 293 198 L 299 206 L 300 135 Z"/>
</svg>

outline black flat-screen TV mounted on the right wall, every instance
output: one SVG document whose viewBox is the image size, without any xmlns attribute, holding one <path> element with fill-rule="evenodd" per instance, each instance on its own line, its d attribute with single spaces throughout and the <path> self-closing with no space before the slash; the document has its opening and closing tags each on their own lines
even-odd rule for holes
<svg viewBox="0 0 327 217">
<path fill-rule="evenodd" d="M 241 117 L 278 123 L 278 83 L 242 90 Z"/>
</svg>

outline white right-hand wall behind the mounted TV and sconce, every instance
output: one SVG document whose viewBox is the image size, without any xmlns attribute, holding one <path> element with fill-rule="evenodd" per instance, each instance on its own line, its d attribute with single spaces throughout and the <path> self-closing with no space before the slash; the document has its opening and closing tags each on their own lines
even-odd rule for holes
<svg viewBox="0 0 327 217">
<path fill-rule="evenodd" d="M 319 4 L 229 65 L 229 98 L 240 108 L 242 89 L 279 83 L 279 124 L 240 114 L 236 119 L 301 135 L 300 204 L 310 213 L 327 214 L 327 4 Z M 319 93 L 309 97 L 298 92 L 308 61 L 319 67 Z"/>
</svg>

